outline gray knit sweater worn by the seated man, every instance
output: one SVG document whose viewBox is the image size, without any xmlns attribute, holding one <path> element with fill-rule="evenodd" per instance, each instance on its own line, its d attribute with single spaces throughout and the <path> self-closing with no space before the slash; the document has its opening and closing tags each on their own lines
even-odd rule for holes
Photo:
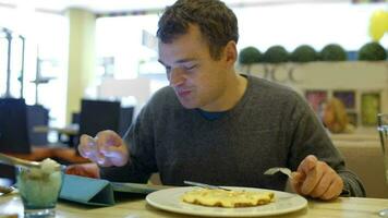
<svg viewBox="0 0 388 218">
<path fill-rule="evenodd" d="M 150 173 L 159 172 L 168 185 L 191 180 L 284 190 L 287 177 L 263 172 L 270 167 L 295 170 L 307 155 L 315 155 L 340 174 L 352 196 L 365 195 L 305 100 L 290 88 L 257 77 L 248 76 L 238 105 L 213 121 L 183 108 L 171 87 L 161 88 L 124 141 L 130 164 L 101 169 L 104 178 L 146 182 Z"/>
</svg>

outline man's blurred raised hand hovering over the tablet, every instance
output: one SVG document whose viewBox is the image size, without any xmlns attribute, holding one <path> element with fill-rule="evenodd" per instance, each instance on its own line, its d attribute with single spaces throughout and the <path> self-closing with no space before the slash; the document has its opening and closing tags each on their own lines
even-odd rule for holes
<svg viewBox="0 0 388 218">
<path fill-rule="evenodd" d="M 99 132 L 94 138 L 82 135 L 78 152 L 101 167 L 121 167 L 129 159 L 129 150 L 123 140 L 110 130 Z"/>
</svg>

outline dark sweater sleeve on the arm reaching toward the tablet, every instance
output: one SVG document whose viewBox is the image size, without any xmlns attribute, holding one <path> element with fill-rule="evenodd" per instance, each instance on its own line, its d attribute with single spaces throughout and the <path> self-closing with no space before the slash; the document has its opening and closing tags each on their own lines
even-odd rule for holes
<svg viewBox="0 0 388 218">
<path fill-rule="evenodd" d="M 151 119 L 149 107 L 146 106 L 123 137 L 129 148 L 129 162 L 123 167 L 100 167 L 101 178 L 116 182 L 146 183 L 150 174 L 157 171 Z"/>
</svg>

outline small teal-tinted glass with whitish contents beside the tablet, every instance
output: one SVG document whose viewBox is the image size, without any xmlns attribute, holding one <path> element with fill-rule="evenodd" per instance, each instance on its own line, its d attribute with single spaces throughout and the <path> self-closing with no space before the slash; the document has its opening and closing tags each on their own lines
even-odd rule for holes
<svg viewBox="0 0 388 218">
<path fill-rule="evenodd" d="M 16 168 L 19 193 L 24 217 L 54 217 L 56 204 L 62 186 L 62 169 Z"/>
</svg>

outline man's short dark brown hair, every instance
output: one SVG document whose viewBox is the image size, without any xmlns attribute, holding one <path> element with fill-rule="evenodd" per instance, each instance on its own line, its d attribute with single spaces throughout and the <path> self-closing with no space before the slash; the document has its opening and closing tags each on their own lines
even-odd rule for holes
<svg viewBox="0 0 388 218">
<path fill-rule="evenodd" d="M 196 24 L 209 46 L 213 59 L 219 60 L 222 48 L 230 41 L 238 43 L 238 20 L 219 0 L 178 0 L 167 7 L 158 23 L 157 36 L 163 44 L 187 33 Z"/>
</svg>

